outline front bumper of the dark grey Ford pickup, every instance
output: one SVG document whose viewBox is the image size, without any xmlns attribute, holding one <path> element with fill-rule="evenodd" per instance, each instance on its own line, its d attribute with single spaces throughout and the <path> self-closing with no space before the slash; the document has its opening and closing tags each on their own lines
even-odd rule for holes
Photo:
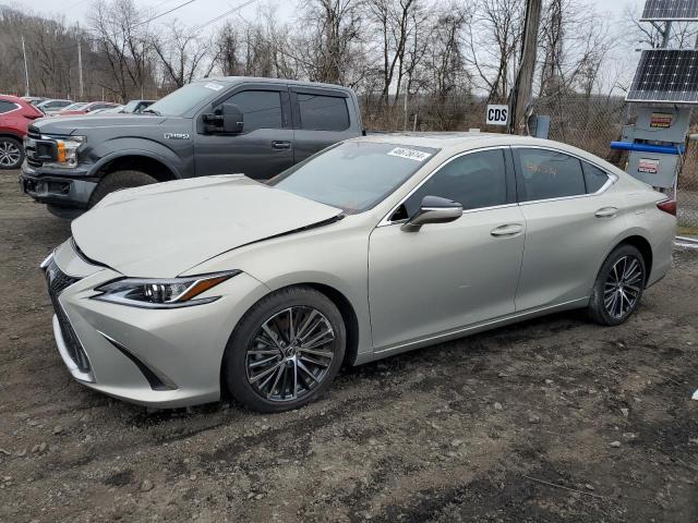
<svg viewBox="0 0 698 523">
<path fill-rule="evenodd" d="M 41 204 L 86 209 L 97 179 L 85 178 L 84 170 L 56 172 L 37 170 L 26 161 L 20 173 L 22 191 Z"/>
</svg>

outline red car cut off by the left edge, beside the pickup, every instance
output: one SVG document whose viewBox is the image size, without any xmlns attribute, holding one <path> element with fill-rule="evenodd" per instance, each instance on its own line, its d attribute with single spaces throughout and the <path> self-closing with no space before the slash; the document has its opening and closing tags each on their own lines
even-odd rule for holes
<svg viewBox="0 0 698 523">
<path fill-rule="evenodd" d="M 33 120 L 44 117 L 16 96 L 0 95 L 0 169 L 19 169 L 24 161 L 22 141 Z"/>
</svg>

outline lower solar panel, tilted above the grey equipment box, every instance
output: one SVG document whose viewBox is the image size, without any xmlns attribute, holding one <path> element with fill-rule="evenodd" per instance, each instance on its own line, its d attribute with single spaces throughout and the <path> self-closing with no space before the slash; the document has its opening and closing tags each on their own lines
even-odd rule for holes
<svg viewBox="0 0 698 523">
<path fill-rule="evenodd" d="M 642 51 L 627 101 L 698 104 L 698 50 Z"/>
</svg>

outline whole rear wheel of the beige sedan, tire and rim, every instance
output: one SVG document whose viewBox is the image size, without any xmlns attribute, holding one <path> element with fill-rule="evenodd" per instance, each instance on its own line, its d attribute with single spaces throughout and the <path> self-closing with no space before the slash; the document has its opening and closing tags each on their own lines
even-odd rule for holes
<svg viewBox="0 0 698 523">
<path fill-rule="evenodd" d="M 600 325 L 621 325 L 637 309 L 647 271 L 633 245 L 619 245 L 605 259 L 593 284 L 588 313 Z"/>
</svg>

